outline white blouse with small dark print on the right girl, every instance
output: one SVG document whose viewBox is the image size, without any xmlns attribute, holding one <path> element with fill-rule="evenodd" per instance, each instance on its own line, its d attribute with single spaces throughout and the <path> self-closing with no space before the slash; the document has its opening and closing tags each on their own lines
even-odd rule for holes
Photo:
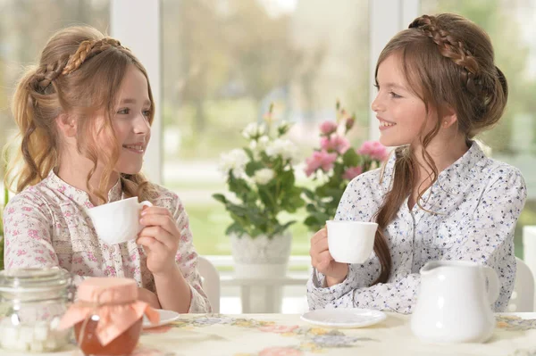
<svg viewBox="0 0 536 356">
<path fill-rule="evenodd" d="M 339 220 L 371 221 L 388 193 L 396 158 L 381 170 L 354 178 L 342 196 Z M 491 160 L 473 143 L 423 196 L 424 210 L 407 199 L 386 228 L 392 270 L 385 284 L 371 286 L 380 275 L 372 253 L 364 264 L 350 264 L 348 277 L 324 287 L 314 270 L 307 283 L 310 309 L 358 307 L 410 313 L 420 286 L 419 269 L 427 261 L 475 261 L 495 269 L 501 288 L 494 309 L 505 310 L 515 280 L 514 229 L 523 210 L 526 186 L 521 172 Z M 427 212 L 431 211 L 431 212 Z"/>
</svg>

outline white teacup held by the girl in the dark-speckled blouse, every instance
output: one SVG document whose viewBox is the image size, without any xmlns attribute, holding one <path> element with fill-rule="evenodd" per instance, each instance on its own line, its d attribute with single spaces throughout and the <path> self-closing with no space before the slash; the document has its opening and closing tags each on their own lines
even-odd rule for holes
<svg viewBox="0 0 536 356">
<path fill-rule="evenodd" d="M 364 263 L 373 252 L 378 224 L 364 221 L 326 221 L 328 247 L 333 260 Z"/>
</svg>

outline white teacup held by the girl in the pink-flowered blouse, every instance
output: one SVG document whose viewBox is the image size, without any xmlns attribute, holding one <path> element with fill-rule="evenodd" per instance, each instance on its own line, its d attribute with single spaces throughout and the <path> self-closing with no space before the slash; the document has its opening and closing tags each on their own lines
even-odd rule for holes
<svg viewBox="0 0 536 356">
<path fill-rule="evenodd" d="M 98 238 L 106 244 L 121 244 L 138 237 L 143 226 L 139 223 L 139 213 L 151 202 L 138 203 L 138 197 L 122 199 L 88 209 Z"/>
</svg>

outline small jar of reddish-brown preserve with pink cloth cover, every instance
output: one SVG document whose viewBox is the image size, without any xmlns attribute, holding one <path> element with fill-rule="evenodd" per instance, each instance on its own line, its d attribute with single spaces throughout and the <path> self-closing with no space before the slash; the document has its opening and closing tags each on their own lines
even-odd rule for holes
<svg viewBox="0 0 536 356">
<path fill-rule="evenodd" d="M 74 327 L 76 341 L 86 355 L 125 355 L 138 344 L 144 315 L 153 324 L 159 322 L 158 312 L 138 301 L 133 279 L 93 277 L 80 284 L 77 301 L 59 327 Z"/>
</svg>

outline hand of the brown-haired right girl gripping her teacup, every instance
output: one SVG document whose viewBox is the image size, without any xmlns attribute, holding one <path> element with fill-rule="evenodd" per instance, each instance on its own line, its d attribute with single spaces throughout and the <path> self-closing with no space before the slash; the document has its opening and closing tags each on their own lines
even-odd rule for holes
<svg viewBox="0 0 536 356">
<path fill-rule="evenodd" d="M 328 230 L 322 228 L 311 238 L 311 263 L 326 277 L 326 285 L 334 286 L 343 282 L 348 275 L 348 263 L 333 260 L 328 249 Z"/>
</svg>

